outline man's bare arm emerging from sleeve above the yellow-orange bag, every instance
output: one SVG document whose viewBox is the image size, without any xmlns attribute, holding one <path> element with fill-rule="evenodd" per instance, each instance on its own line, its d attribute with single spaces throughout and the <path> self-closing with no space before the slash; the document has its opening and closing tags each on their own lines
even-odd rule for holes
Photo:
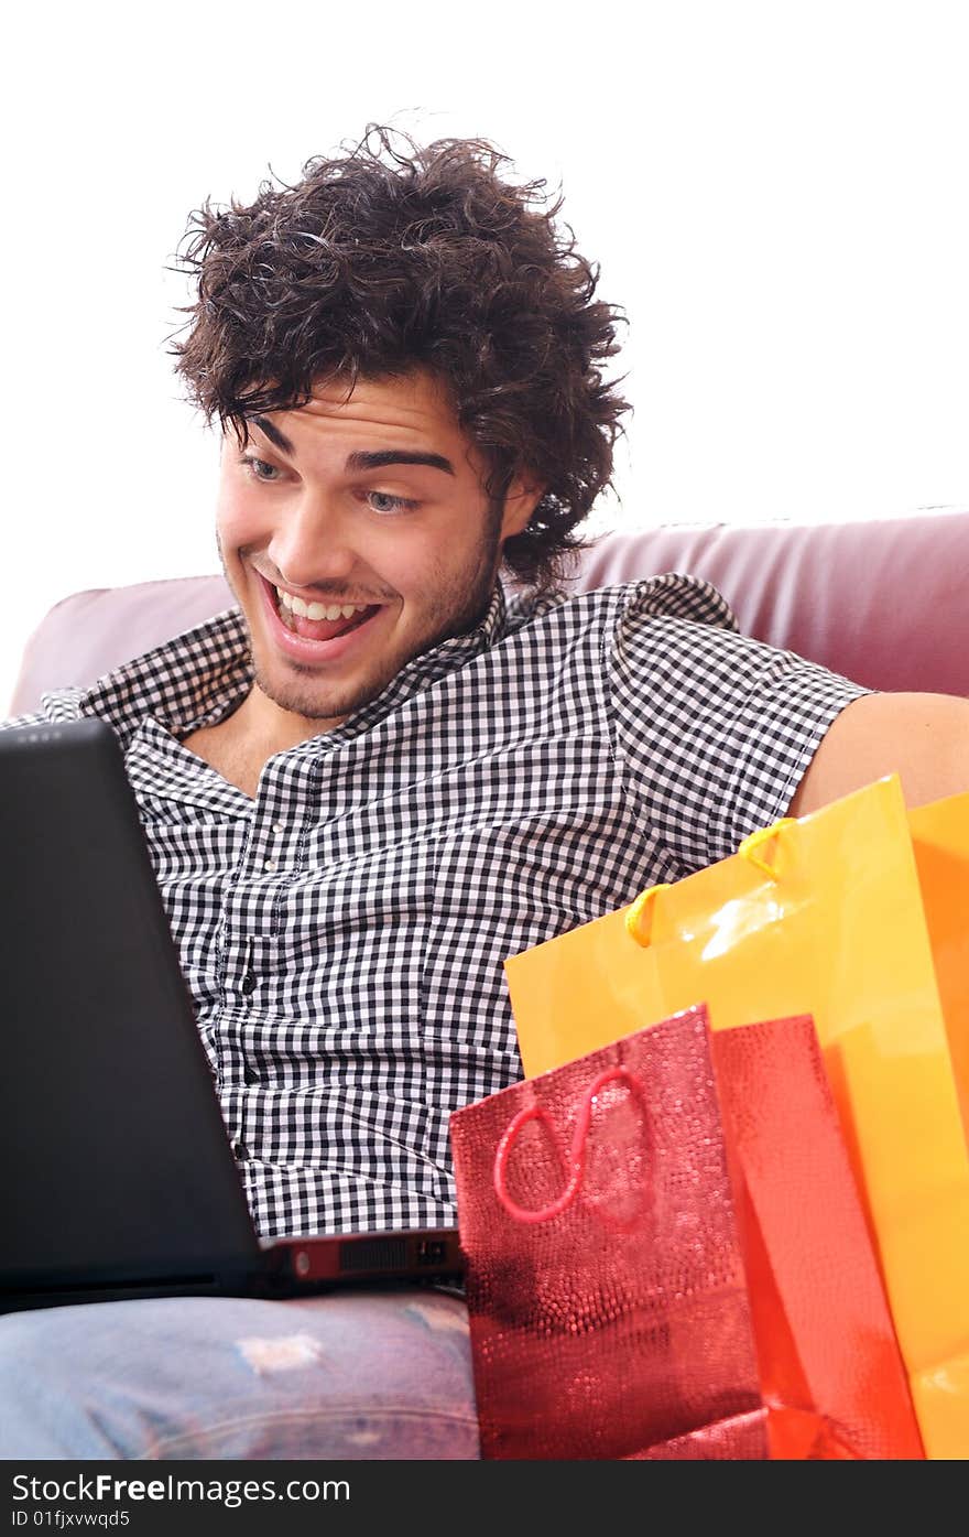
<svg viewBox="0 0 969 1537">
<path fill-rule="evenodd" d="M 969 790 L 969 699 L 872 693 L 837 716 L 811 759 L 789 816 L 805 816 L 897 773 L 909 805 Z"/>
</svg>

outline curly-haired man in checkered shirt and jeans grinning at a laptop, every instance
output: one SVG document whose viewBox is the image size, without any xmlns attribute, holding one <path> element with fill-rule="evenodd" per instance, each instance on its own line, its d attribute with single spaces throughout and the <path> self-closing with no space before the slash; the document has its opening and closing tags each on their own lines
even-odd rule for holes
<svg viewBox="0 0 969 1537">
<path fill-rule="evenodd" d="M 883 773 L 914 802 L 969 784 L 969 702 L 869 695 L 688 578 L 556 592 L 625 401 L 616 315 L 539 191 L 485 144 L 376 134 L 195 215 L 177 355 L 223 426 L 238 610 L 46 704 L 118 732 L 266 1236 L 455 1220 L 448 1116 L 521 1071 L 507 956 Z M 260 1456 L 353 1456 L 316 1371 L 347 1302 L 272 1305 L 315 1373 L 272 1403 L 235 1343 L 267 1306 L 0 1320 L 29 1362 L 5 1454 L 250 1456 L 212 1429 L 227 1400 Z M 152 1328 L 180 1351 L 164 1414 Z M 293 1449 L 267 1426 L 307 1394 Z"/>
</svg>

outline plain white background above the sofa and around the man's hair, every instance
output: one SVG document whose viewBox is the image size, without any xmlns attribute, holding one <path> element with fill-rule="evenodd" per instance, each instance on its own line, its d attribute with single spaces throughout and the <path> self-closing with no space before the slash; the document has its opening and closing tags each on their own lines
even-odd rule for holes
<svg viewBox="0 0 969 1537">
<path fill-rule="evenodd" d="M 562 183 L 627 307 L 596 527 L 969 503 L 969 5 L 48 5 L 5 22 L 0 712 L 83 587 L 217 569 L 166 274 L 369 120 Z"/>
</svg>

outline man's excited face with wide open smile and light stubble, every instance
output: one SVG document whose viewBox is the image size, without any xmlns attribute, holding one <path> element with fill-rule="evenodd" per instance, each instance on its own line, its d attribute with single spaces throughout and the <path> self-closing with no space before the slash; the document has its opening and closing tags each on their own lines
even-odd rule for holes
<svg viewBox="0 0 969 1537">
<path fill-rule="evenodd" d="M 322 384 L 250 423 L 246 449 L 226 435 L 218 544 L 267 724 L 333 727 L 482 616 L 502 543 L 541 495 L 514 483 L 496 507 L 482 475 L 425 373 L 359 381 L 349 398 Z"/>
</svg>

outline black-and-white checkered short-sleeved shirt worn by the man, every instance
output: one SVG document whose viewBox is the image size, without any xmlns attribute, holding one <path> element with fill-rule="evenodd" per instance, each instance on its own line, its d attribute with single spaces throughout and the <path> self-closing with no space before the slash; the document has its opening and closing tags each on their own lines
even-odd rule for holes
<svg viewBox="0 0 969 1537">
<path fill-rule="evenodd" d="M 267 1237 L 453 1223 L 448 1116 L 521 1077 L 504 959 L 734 853 L 866 692 L 694 578 L 498 587 L 252 801 L 180 741 L 250 686 L 232 609 L 17 724 L 121 741 Z"/>
</svg>

